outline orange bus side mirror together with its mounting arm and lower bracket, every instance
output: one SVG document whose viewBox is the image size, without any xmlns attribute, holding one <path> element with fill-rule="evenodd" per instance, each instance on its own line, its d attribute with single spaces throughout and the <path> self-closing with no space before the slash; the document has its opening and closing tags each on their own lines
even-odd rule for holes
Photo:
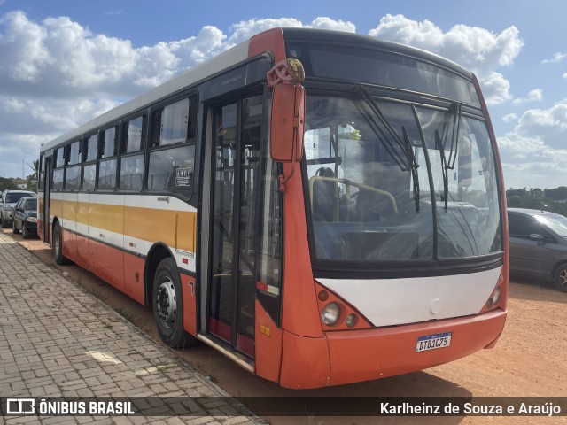
<svg viewBox="0 0 567 425">
<path fill-rule="evenodd" d="M 303 66 L 297 59 L 284 59 L 267 73 L 268 88 L 272 89 L 270 156 L 276 162 L 291 163 L 290 174 L 279 176 L 282 192 L 303 154 L 304 79 Z"/>
</svg>

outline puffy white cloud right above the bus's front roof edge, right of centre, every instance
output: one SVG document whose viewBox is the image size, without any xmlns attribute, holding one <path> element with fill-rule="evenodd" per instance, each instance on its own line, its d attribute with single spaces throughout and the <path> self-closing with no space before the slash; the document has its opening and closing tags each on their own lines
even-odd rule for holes
<svg viewBox="0 0 567 425">
<path fill-rule="evenodd" d="M 427 19 L 417 22 L 388 14 L 369 35 L 432 51 L 477 73 L 488 104 L 512 98 L 509 81 L 495 69 L 510 66 L 522 50 L 524 42 L 517 27 L 494 34 L 484 28 L 455 25 L 444 33 Z"/>
</svg>

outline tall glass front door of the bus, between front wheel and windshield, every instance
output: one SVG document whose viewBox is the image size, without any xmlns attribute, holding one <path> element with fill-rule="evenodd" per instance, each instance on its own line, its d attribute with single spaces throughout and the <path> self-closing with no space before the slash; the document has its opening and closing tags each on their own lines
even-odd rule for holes
<svg viewBox="0 0 567 425">
<path fill-rule="evenodd" d="M 262 97 L 213 115 L 208 332 L 253 358 Z"/>
</svg>

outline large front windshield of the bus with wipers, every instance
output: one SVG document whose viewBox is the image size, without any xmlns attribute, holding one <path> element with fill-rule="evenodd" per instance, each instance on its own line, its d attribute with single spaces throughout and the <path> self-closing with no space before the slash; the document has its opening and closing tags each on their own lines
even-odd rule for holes
<svg viewBox="0 0 567 425">
<path fill-rule="evenodd" d="M 502 251 L 484 120 L 392 99 L 311 96 L 305 133 L 312 256 L 465 259 Z"/>
</svg>

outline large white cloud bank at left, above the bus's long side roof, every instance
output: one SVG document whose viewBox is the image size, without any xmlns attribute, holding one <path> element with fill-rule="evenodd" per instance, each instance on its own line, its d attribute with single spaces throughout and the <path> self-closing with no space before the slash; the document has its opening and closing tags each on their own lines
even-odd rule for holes
<svg viewBox="0 0 567 425">
<path fill-rule="evenodd" d="M 353 23 L 329 17 L 308 24 L 293 18 L 250 19 L 229 27 L 228 34 L 206 26 L 183 40 L 134 48 L 129 40 L 93 34 L 67 17 L 35 22 L 25 12 L 4 14 L 0 169 L 19 175 L 14 159 L 35 158 L 41 143 L 272 27 L 355 31 Z"/>
</svg>

